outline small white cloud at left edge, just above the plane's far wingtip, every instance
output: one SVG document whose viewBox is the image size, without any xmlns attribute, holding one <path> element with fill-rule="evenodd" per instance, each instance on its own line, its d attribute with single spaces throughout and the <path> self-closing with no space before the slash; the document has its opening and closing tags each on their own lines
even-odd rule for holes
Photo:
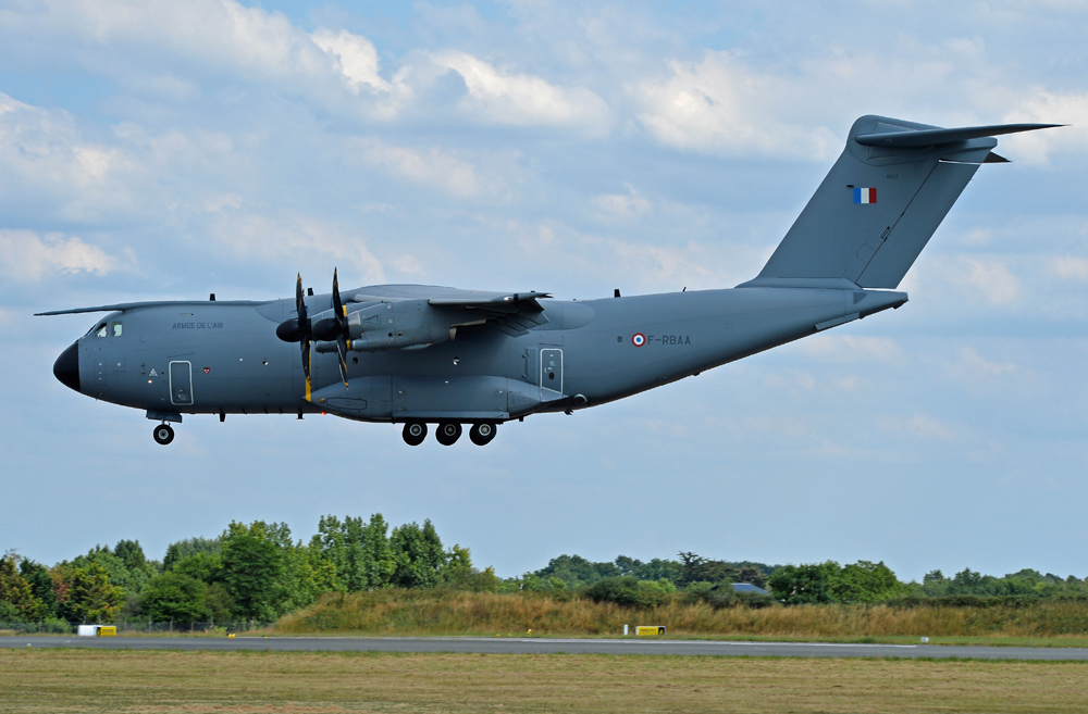
<svg viewBox="0 0 1088 714">
<path fill-rule="evenodd" d="M 0 270 L 21 283 L 39 280 L 58 273 L 104 275 L 132 264 L 110 256 L 98 246 L 61 234 L 39 236 L 33 230 L 0 230 Z"/>
</svg>

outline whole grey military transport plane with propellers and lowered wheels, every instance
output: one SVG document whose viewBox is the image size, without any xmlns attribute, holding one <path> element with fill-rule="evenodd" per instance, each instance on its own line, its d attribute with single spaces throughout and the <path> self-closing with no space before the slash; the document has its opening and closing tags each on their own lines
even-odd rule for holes
<svg viewBox="0 0 1088 714">
<path fill-rule="evenodd" d="M 589 301 L 535 291 L 382 285 L 270 301 L 131 302 L 58 358 L 72 389 L 147 410 L 170 443 L 182 414 L 330 413 L 404 425 L 417 446 L 462 427 L 605 404 L 899 308 L 907 270 L 992 137 L 1059 126 L 939 128 L 863 116 L 754 279 L 733 289 Z"/>
</svg>

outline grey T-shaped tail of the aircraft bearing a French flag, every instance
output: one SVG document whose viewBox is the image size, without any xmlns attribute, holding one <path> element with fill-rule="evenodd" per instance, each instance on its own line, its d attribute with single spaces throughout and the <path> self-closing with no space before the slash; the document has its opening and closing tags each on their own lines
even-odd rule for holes
<svg viewBox="0 0 1088 714">
<path fill-rule="evenodd" d="M 1053 126 L 861 117 L 763 272 L 739 287 L 894 289 L 978 167 L 1006 161 L 993 137 Z"/>
</svg>

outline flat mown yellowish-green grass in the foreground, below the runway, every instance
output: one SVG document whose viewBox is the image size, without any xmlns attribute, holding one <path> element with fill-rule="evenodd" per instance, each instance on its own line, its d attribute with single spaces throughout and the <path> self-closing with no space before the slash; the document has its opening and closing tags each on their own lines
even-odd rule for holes
<svg viewBox="0 0 1088 714">
<path fill-rule="evenodd" d="M 1088 663 L 0 651 L 3 712 L 1083 712 Z"/>
</svg>

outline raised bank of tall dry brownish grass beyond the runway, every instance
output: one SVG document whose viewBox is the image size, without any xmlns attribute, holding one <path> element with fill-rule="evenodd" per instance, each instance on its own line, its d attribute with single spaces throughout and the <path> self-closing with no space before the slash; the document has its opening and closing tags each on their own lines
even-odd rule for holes
<svg viewBox="0 0 1088 714">
<path fill-rule="evenodd" d="M 282 634 L 616 636 L 665 625 L 671 637 L 1088 646 L 1088 603 L 988 607 L 798 605 L 715 609 L 673 598 L 652 609 L 544 593 L 380 590 L 332 593 L 276 623 Z"/>
</svg>

